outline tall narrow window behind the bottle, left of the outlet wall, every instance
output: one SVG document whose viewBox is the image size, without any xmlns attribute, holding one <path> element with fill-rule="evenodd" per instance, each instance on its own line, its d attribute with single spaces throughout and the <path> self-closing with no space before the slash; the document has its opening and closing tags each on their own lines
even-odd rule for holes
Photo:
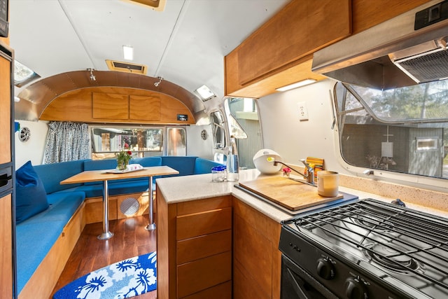
<svg viewBox="0 0 448 299">
<path fill-rule="evenodd" d="M 255 99 L 225 99 L 225 112 L 229 122 L 230 135 L 237 141 L 239 165 L 252 169 L 253 156 L 262 149 L 262 134 Z"/>
</svg>

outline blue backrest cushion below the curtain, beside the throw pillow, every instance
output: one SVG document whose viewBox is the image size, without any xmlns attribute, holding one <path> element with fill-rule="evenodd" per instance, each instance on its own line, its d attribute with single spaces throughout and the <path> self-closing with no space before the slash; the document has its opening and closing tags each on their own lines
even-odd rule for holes
<svg viewBox="0 0 448 299">
<path fill-rule="evenodd" d="M 34 165 L 34 170 L 41 178 L 43 186 L 47 194 L 72 188 L 74 186 L 81 186 L 82 183 L 61 184 L 61 181 L 68 179 L 84 170 L 85 160 L 75 160 L 69 162 L 50 163 L 43 165 Z"/>
</svg>

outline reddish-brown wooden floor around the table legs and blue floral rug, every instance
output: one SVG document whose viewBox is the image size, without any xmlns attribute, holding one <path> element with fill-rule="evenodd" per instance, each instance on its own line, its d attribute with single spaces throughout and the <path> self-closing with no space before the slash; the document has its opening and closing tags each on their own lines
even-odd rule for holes
<svg viewBox="0 0 448 299">
<path fill-rule="evenodd" d="M 156 250 L 156 230 L 145 230 L 148 216 L 120 219 L 109 222 L 114 236 L 109 240 L 99 240 L 102 223 L 87 224 L 66 263 L 64 271 L 53 290 L 59 288 L 89 272 Z M 52 298 L 52 296 L 50 297 Z M 136 299 L 155 299 L 157 291 L 138 295 Z"/>
</svg>

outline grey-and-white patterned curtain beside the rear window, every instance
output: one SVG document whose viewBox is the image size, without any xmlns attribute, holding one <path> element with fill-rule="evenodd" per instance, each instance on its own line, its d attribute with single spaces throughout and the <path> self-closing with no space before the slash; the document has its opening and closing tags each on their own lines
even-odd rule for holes
<svg viewBox="0 0 448 299">
<path fill-rule="evenodd" d="M 43 164 L 90 158 L 88 125 L 85 123 L 48 124 Z"/>
</svg>

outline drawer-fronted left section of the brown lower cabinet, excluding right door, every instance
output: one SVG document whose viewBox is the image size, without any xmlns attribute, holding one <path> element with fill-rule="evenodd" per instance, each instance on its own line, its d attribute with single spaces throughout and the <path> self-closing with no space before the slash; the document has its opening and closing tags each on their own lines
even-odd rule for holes
<svg viewBox="0 0 448 299">
<path fill-rule="evenodd" d="M 167 204 L 156 194 L 158 298 L 232 298 L 232 197 Z"/>
</svg>

